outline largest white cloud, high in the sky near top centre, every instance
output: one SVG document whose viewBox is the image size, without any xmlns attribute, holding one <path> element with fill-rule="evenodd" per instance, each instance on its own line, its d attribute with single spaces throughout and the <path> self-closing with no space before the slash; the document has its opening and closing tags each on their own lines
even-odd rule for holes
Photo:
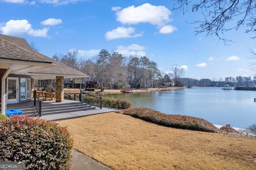
<svg viewBox="0 0 256 170">
<path fill-rule="evenodd" d="M 143 4 L 138 7 L 129 6 L 116 12 L 117 21 L 122 24 L 151 23 L 163 27 L 170 22 L 169 15 L 172 13 L 164 6 Z"/>
</svg>

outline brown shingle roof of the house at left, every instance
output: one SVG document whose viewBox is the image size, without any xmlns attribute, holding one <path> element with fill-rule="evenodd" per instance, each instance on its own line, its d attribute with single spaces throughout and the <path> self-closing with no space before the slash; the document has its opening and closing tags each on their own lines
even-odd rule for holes
<svg viewBox="0 0 256 170">
<path fill-rule="evenodd" d="M 55 67 L 30 72 L 33 75 L 45 76 L 65 76 L 65 77 L 86 77 L 87 75 L 62 64 L 50 57 L 33 51 L 28 45 L 26 39 L 19 37 L 12 37 L 0 34 L 0 59 L 27 61 L 37 63 L 52 63 Z M 35 76 L 36 77 L 36 76 Z"/>
</svg>

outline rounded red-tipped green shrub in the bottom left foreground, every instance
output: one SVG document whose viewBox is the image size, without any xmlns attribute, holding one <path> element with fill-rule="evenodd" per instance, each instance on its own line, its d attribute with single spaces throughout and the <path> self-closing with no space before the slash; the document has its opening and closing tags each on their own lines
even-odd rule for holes
<svg viewBox="0 0 256 170">
<path fill-rule="evenodd" d="M 26 169 L 67 170 L 72 146 L 66 127 L 53 121 L 18 115 L 0 121 L 0 161 L 24 161 Z"/>
</svg>

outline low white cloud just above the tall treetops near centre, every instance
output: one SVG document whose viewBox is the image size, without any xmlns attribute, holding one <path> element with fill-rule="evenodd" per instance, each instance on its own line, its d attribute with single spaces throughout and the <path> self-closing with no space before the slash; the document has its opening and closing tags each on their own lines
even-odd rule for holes
<svg viewBox="0 0 256 170">
<path fill-rule="evenodd" d="M 119 45 L 117 47 L 116 51 L 118 53 L 122 54 L 123 56 L 134 55 L 134 56 L 138 56 L 138 57 L 143 57 L 143 56 L 146 56 L 145 51 L 143 51 L 144 49 L 145 49 L 144 46 L 132 44 L 132 45 L 128 45 L 127 47 Z"/>
</svg>

